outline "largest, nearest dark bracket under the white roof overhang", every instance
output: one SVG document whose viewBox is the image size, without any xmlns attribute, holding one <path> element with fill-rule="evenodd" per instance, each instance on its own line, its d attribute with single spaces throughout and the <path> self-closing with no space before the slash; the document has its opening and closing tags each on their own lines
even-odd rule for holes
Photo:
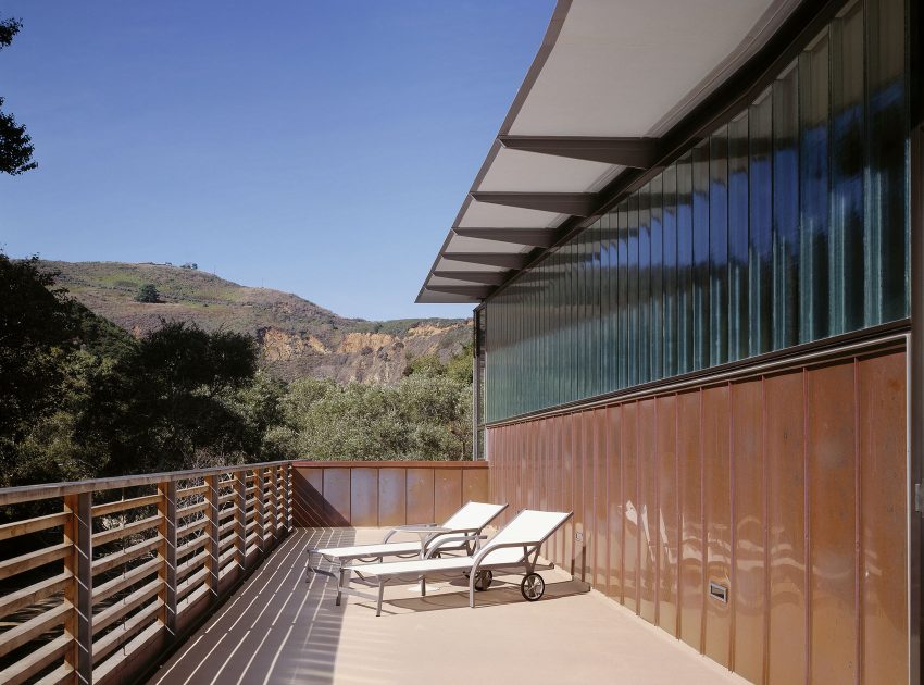
<svg viewBox="0 0 924 685">
<path fill-rule="evenodd" d="M 658 160 L 658 138 L 602 138 L 597 136 L 498 136 L 510 150 L 554 154 L 575 160 L 650 169 Z"/>
</svg>

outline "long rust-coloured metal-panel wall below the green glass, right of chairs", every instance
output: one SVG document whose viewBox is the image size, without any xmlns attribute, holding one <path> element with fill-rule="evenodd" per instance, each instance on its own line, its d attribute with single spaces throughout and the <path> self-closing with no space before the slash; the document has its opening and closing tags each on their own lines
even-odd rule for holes
<svg viewBox="0 0 924 685">
<path fill-rule="evenodd" d="M 490 428 L 491 497 L 573 510 L 547 557 L 752 682 L 907 682 L 906 374 L 892 349 Z"/>
</svg>

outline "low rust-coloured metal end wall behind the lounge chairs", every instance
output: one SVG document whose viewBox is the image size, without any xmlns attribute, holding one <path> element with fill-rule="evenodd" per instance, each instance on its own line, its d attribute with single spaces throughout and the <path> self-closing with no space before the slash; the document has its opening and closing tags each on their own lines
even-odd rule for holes
<svg viewBox="0 0 924 685">
<path fill-rule="evenodd" d="M 296 461 L 296 526 L 391 526 L 445 521 L 488 501 L 484 461 Z"/>
</svg>

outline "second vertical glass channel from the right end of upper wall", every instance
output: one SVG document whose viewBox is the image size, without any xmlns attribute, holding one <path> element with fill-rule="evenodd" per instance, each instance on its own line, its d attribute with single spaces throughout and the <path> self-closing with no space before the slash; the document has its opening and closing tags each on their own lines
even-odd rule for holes
<svg viewBox="0 0 924 685">
<path fill-rule="evenodd" d="M 863 325 L 863 4 L 832 23 L 831 333 Z"/>
</svg>

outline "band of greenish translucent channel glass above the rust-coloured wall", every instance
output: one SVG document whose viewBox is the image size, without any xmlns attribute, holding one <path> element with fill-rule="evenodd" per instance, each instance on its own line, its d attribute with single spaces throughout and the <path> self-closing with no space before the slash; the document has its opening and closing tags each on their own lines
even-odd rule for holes
<svg viewBox="0 0 924 685">
<path fill-rule="evenodd" d="M 908 315 L 903 0 L 856 0 L 765 92 L 485 306 L 485 419 Z"/>
</svg>

